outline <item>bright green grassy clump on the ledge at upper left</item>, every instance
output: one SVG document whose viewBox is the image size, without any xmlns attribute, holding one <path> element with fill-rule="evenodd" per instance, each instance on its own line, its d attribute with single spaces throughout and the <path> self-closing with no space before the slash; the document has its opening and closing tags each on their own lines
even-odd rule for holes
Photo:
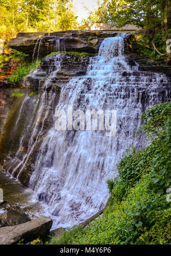
<svg viewBox="0 0 171 256">
<path fill-rule="evenodd" d="M 40 61 L 35 61 L 33 63 L 24 64 L 17 68 L 16 72 L 10 76 L 10 82 L 21 82 L 27 74 L 32 70 L 35 70 L 36 67 L 40 64 Z"/>
</svg>

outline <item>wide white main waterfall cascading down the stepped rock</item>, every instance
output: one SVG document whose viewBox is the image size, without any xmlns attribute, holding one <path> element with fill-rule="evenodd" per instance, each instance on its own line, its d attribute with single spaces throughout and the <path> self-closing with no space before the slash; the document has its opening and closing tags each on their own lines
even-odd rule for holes
<svg viewBox="0 0 171 256">
<path fill-rule="evenodd" d="M 141 113 L 161 102 L 155 88 L 161 79 L 166 82 L 166 77 L 129 66 L 124 41 L 124 34 L 105 38 L 87 75 L 72 78 L 62 88 L 56 106 L 66 112 L 68 105 L 84 112 L 115 109 L 116 136 L 52 127 L 39 149 L 30 187 L 34 199 L 43 201 L 50 214 L 57 216 L 56 226 L 76 225 L 105 206 L 109 196 L 106 180 L 113 176 L 125 149 L 140 144 L 135 131 L 141 124 Z"/>
</svg>

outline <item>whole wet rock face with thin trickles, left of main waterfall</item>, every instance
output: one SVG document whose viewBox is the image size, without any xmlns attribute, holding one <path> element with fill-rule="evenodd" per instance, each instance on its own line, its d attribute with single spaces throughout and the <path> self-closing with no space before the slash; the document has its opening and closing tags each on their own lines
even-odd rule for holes
<svg viewBox="0 0 171 256">
<path fill-rule="evenodd" d="M 13 115 L 12 120 L 8 120 L 10 125 L 3 135 L 6 140 L 2 141 L 6 156 L 2 160 L 3 167 L 24 186 L 28 186 L 40 144 L 54 122 L 60 89 L 72 77 L 86 73 L 88 63 L 89 57 L 86 56 L 53 54 L 44 58 L 39 68 L 25 78 L 27 89 L 30 87 L 38 94 L 30 96 L 30 93 L 26 93 L 18 102 L 16 117 Z"/>
</svg>

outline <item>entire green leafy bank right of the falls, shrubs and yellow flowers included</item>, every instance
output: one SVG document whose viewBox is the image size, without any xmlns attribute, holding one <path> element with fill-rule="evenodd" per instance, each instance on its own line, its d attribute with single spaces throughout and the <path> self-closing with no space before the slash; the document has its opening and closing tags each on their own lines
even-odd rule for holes
<svg viewBox="0 0 171 256">
<path fill-rule="evenodd" d="M 143 113 L 140 128 L 151 143 L 133 148 L 117 166 L 119 176 L 108 180 L 109 205 L 89 227 L 64 232 L 52 244 L 170 244 L 171 104 Z"/>
</svg>

